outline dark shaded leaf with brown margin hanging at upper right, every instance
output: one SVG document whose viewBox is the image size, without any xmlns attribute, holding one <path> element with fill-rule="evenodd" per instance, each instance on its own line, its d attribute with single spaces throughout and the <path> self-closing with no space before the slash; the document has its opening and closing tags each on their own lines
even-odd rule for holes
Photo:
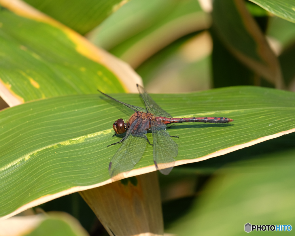
<svg viewBox="0 0 295 236">
<path fill-rule="evenodd" d="M 213 2 L 213 26 L 231 53 L 276 88 L 283 88 L 278 59 L 242 0 Z"/>
</svg>

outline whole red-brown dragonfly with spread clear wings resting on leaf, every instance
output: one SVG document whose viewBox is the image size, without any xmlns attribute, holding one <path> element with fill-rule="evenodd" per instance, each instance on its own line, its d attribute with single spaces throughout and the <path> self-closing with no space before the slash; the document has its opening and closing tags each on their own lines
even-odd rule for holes
<svg viewBox="0 0 295 236">
<path fill-rule="evenodd" d="M 137 89 L 144 101 L 145 109 L 114 99 L 98 90 L 101 94 L 135 111 L 128 120 L 124 121 L 124 119 L 120 118 L 113 124 L 115 131 L 113 137 L 122 135 L 125 132 L 126 135 L 119 142 L 107 146 L 122 144 L 109 163 L 109 175 L 111 178 L 120 173 L 131 171 L 142 158 L 147 142 L 153 146 L 153 161 L 156 169 L 162 174 L 168 175 L 174 167 L 174 158 L 178 154 L 178 145 L 172 138 L 179 137 L 169 135 L 167 128 L 170 128 L 175 123 L 228 123 L 233 121 L 233 119 L 227 117 L 172 118 L 169 113 L 156 104 L 142 86 L 137 84 Z M 172 125 L 168 127 L 167 124 Z M 147 131 L 152 132 L 153 143 L 148 140 Z"/>
</svg>

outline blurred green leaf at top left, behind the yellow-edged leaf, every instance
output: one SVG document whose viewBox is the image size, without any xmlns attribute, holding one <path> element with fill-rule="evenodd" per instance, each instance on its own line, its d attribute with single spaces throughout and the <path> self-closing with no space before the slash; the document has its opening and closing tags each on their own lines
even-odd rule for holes
<svg viewBox="0 0 295 236">
<path fill-rule="evenodd" d="M 84 35 L 127 1 L 122 0 L 24 0 L 36 9 Z"/>
</svg>

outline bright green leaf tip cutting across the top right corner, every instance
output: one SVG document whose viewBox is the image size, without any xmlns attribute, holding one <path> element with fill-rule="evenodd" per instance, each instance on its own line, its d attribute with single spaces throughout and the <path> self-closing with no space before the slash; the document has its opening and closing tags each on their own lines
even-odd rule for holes
<svg viewBox="0 0 295 236">
<path fill-rule="evenodd" d="M 274 15 L 295 23 L 295 3 L 292 0 L 250 0 Z"/>
</svg>

